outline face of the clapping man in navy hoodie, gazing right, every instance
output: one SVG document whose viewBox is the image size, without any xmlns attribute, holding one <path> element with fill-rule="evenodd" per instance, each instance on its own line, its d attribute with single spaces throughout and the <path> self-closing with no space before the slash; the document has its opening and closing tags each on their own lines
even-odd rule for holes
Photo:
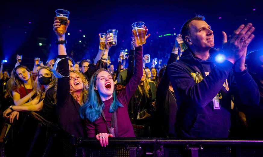
<svg viewBox="0 0 263 157">
<path fill-rule="evenodd" d="M 191 50 L 209 50 L 214 46 L 214 34 L 203 20 L 190 22 L 190 34 L 185 37 Z"/>
</svg>

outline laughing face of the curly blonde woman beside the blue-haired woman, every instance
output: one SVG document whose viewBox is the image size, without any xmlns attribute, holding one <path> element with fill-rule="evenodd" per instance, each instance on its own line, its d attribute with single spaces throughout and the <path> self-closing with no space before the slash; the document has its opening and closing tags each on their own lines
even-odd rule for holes
<svg viewBox="0 0 263 157">
<path fill-rule="evenodd" d="M 74 72 L 69 73 L 69 85 L 73 92 L 80 92 L 83 89 L 83 82 L 80 76 Z"/>
</svg>

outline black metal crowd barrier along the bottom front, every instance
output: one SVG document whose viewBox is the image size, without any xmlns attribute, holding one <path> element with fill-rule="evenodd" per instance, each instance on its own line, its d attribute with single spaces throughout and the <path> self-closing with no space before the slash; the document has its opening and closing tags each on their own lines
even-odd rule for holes
<svg viewBox="0 0 263 157">
<path fill-rule="evenodd" d="M 139 137 L 110 138 L 107 147 L 100 146 L 95 138 L 74 137 L 57 125 L 49 122 L 35 112 L 28 112 L 23 119 L 22 128 L 25 129 L 27 121 L 33 119 L 37 125 L 34 133 L 28 137 L 30 144 L 26 153 L 18 152 L 20 156 L 192 156 L 192 157 L 262 157 L 263 140 L 231 140 L 231 139 L 191 139 Z M 30 121 L 32 122 L 32 121 Z M 11 127 L 15 125 L 12 124 Z M 28 129 L 28 128 L 27 128 Z M 9 130 L 11 131 L 11 129 Z M 22 130 L 18 131 L 24 136 Z M 26 131 L 24 131 L 26 132 Z M 43 134 L 44 133 L 44 134 Z M 8 132 L 11 134 L 11 132 Z M 7 134 L 7 135 L 8 135 Z M 1 143 L 1 156 L 12 156 L 16 152 L 8 151 L 14 146 L 9 136 Z M 45 137 L 45 138 L 43 138 Z M 18 138 L 18 137 L 16 137 Z M 19 139 L 19 138 L 18 138 Z M 10 140 L 10 143 L 6 143 Z M 39 147 L 41 143 L 41 147 Z M 5 149 L 4 149 L 5 148 Z M 11 150 L 17 150 L 13 147 Z"/>
</svg>

